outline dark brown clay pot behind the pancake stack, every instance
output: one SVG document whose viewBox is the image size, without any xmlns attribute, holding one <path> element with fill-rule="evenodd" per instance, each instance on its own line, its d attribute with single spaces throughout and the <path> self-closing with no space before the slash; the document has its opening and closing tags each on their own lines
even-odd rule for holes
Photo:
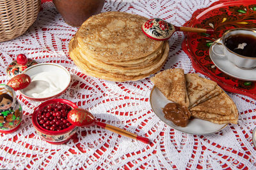
<svg viewBox="0 0 256 170">
<path fill-rule="evenodd" d="M 79 27 L 83 22 L 100 13 L 104 0 L 53 0 L 54 5 L 68 25 Z"/>
</svg>

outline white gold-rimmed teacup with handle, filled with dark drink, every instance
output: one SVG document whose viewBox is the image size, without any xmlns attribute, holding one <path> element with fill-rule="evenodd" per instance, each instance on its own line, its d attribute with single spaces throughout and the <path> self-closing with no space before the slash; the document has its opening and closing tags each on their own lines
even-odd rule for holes
<svg viewBox="0 0 256 170">
<path fill-rule="evenodd" d="M 256 31 L 253 29 L 230 29 L 212 43 L 211 49 L 241 69 L 256 67 Z"/>
</svg>

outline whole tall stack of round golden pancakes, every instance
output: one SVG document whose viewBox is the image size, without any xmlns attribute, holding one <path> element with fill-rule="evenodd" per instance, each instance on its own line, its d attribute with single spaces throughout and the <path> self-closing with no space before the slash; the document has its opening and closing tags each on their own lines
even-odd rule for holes
<svg viewBox="0 0 256 170">
<path fill-rule="evenodd" d="M 168 57 L 168 41 L 147 38 L 147 18 L 111 11 L 86 20 L 69 43 L 74 63 L 90 76 L 135 81 L 154 74 Z"/>
</svg>

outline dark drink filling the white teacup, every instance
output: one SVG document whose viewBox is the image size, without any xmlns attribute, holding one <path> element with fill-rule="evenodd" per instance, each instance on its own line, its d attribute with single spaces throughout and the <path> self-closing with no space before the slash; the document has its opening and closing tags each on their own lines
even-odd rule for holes
<svg viewBox="0 0 256 170">
<path fill-rule="evenodd" d="M 236 34 L 228 36 L 224 42 L 232 52 L 245 57 L 256 57 L 256 37 L 250 34 Z"/>
</svg>

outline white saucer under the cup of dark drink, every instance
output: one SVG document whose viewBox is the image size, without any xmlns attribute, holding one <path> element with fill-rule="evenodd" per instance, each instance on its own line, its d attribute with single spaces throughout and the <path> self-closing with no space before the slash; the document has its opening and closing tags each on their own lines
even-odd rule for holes
<svg viewBox="0 0 256 170">
<path fill-rule="evenodd" d="M 212 46 L 209 49 L 209 55 L 212 62 L 223 73 L 228 74 L 234 78 L 244 81 L 256 81 L 256 69 L 241 69 L 232 62 L 228 61 L 225 57 L 220 57 L 212 52 Z"/>
</svg>

